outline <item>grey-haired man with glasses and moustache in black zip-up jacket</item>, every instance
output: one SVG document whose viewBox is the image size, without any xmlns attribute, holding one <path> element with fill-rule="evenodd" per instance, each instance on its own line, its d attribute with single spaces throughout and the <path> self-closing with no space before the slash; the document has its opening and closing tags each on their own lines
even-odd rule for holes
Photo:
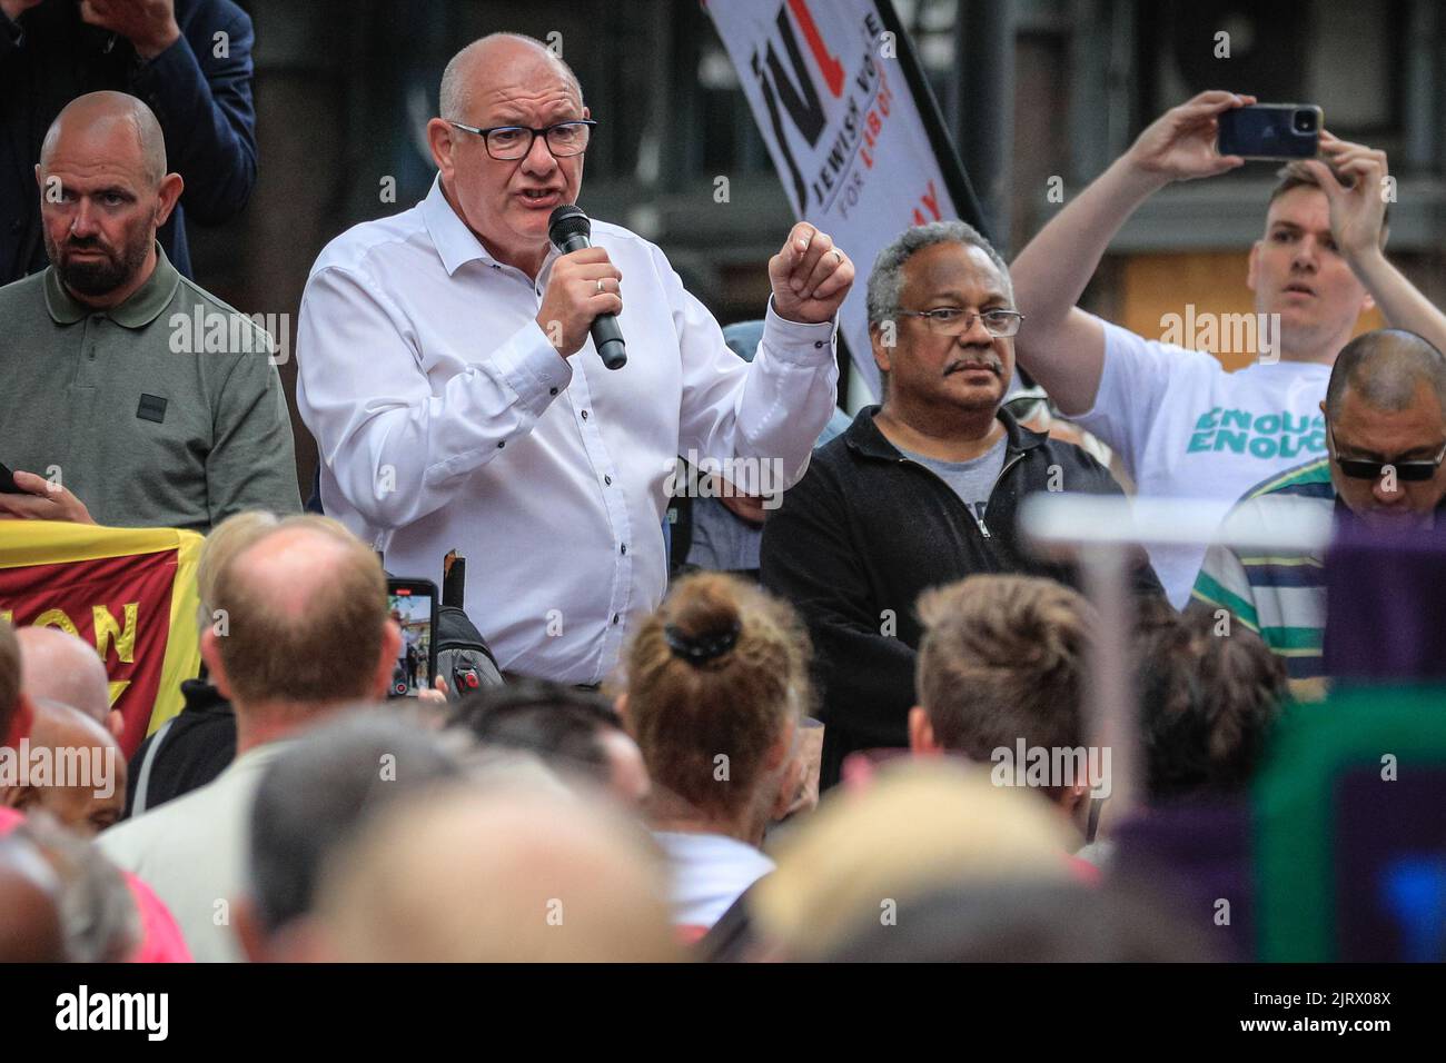
<svg viewBox="0 0 1446 1063">
<path fill-rule="evenodd" d="M 1002 408 L 1022 317 L 970 226 L 907 230 L 875 260 L 868 307 L 884 404 L 816 453 L 763 526 L 763 584 L 807 619 L 820 665 L 824 785 L 852 751 L 908 745 L 920 592 L 975 573 L 1073 583 L 1025 548 L 1019 502 L 1119 493 L 1083 450 Z M 1160 593 L 1142 560 L 1135 586 Z"/>
</svg>

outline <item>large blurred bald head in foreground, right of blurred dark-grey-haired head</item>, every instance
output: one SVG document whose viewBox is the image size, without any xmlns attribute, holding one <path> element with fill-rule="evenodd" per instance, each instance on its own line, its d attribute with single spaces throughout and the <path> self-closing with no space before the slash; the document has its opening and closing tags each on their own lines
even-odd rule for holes
<svg viewBox="0 0 1446 1063">
<path fill-rule="evenodd" d="M 320 914 L 353 962 L 675 959 L 658 858 L 593 804 L 457 788 L 392 806 L 328 863 Z"/>
</svg>

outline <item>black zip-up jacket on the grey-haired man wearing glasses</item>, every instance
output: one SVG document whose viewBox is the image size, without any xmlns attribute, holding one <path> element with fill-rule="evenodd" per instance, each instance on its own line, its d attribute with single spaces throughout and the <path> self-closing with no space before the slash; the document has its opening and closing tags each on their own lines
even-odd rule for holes
<svg viewBox="0 0 1446 1063">
<path fill-rule="evenodd" d="M 1004 467 L 985 519 L 975 521 L 944 480 L 884 437 L 873 424 L 878 409 L 862 409 L 843 435 L 814 451 L 763 525 L 763 586 L 792 602 L 813 638 L 827 725 L 824 785 L 837 781 L 855 749 L 908 745 L 920 592 L 977 573 L 1047 576 L 1077 587 L 1071 568 L 1028 552 L 1017 528 L 1019 502 L 1051 486 L 1122 493 L 1087 453 L 999 411 Z M 1137 593 L 1164 593 L 1144 555 L 1134 583 Z"/>
</svg>

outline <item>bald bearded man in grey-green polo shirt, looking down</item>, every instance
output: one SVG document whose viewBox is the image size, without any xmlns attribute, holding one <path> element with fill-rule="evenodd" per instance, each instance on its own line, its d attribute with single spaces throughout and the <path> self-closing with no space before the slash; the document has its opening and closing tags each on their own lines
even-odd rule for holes
<svg viewBox="0 0 1446 1063">
<path fill-rule="evenodd" d="M 150 108 L 71 101 L 35 171 L 51 268 L 0 288 L 0 463 L 19 489 L 0 518 L 207 532 L 299 511 L 270 337 L 156 243 L 182 181 Z"/>
</svg>

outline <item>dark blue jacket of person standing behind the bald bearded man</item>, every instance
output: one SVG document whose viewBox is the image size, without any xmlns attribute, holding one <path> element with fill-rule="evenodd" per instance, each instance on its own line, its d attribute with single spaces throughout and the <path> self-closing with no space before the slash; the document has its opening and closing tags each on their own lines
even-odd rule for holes
<svg viewBox="0 0 1446 1063">
<path fill-rule="evenodd" d="M 185 215 L 217 224 L 246 205 L 256 184 L 252 20 L 231 0 L 175 0 L 175 17 L 181 39 L 142 62 L 129 40 L 81 22 L 75 0 L 45 0 L 16 22 L 0 14 L 0 285 L 49 265 L 35 163 L 51 121 L 85 93 L 130 93 L 161 120 L 185 191 L 159 240 L 185 276 Z"/>
</svg>

